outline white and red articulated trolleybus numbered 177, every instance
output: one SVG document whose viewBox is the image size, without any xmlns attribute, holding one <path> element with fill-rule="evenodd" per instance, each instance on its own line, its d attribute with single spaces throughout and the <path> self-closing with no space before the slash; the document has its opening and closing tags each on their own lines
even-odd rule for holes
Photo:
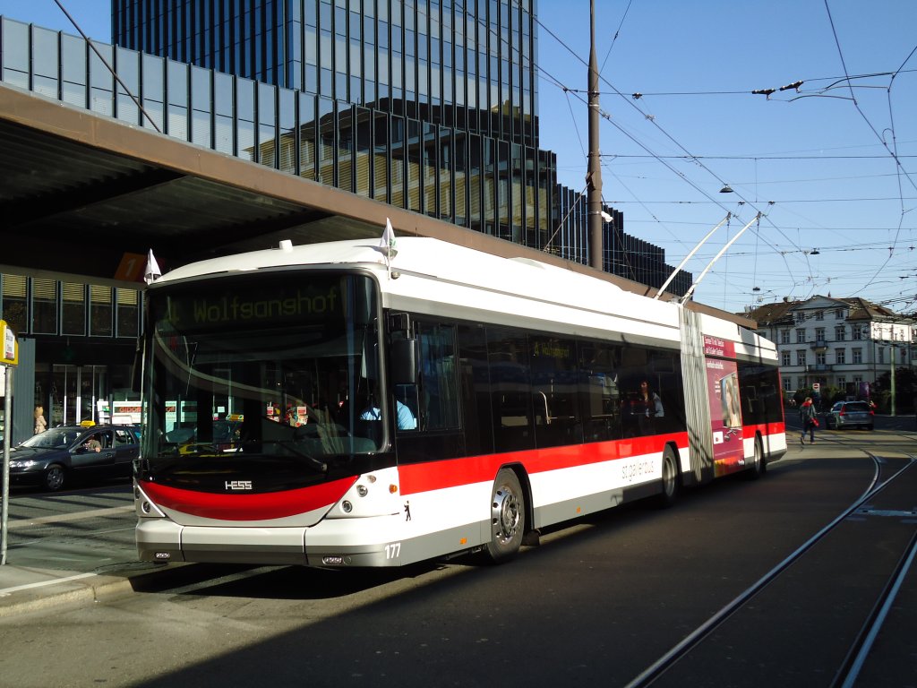
<svg viewBox="0 0 917 688">
<path fill-rule="evenodd" d="M 141 560 L 506 560 L 787 449 L 735 322 L 436 239 L 283 244 L 147 291 Z"/>
</svg>

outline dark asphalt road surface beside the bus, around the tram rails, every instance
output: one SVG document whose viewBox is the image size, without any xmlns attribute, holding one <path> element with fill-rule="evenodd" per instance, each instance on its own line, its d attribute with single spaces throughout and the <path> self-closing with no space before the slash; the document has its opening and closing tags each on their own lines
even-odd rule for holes
<svg viewBox="0 0 917 688">
<path fill-rule="evenodd" d="M 791 447 L 763 480 L 714 483 L 668 510 L 584 518 L 499 567 L 201 567 L 178 587 L 0 619 L 0 686 L 624 686 L 864 494 L 877 465 L 865 449 L 886 457 L 889 477 L 917 453 L 917 436 L 825 432 Z M 903 485 L 881 506 L 917 506 L 913 494 Z M 24 498 L 38 514 L 39 494 L 11 507 Z M 129 498 L 126 486 L 49 497 L 63 513 L 94 514 L 14 529 L 34 542 L 11 553 L 79 559 L 71 531 L 125 537 Z M 917 528 L 848 520 L 658 684 L 832 685 L 851 629 L 888 581 L 891 549 Z M 44 527 L 56 529 L 42 537 Z M 911 572 L 856 685 L 917 682 L 915 594 Z"/>
</svg>

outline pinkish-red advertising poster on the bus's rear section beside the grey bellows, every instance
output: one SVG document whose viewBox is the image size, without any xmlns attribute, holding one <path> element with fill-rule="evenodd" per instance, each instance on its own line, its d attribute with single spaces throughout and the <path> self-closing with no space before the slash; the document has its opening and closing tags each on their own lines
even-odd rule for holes
<svg viewBox="0 0 917 688">
<path fill-rule="evenodd" d="M 732 342 L 705 337 L 704 353 L 713 431 L 713 469 L 719 476 L 745 465 L 738 372 L 735 358 L 716 358 L 735 357 Z"/>
</svg>

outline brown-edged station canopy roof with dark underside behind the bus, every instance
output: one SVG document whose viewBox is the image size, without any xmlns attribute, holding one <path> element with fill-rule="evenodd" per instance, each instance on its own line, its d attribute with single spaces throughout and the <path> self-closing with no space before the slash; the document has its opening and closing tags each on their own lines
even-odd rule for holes
<svg viewBox="0 0 917 688">
<path fill-rule="evenodd" d="M 396 236 L 434 237 L 586 272 L 638 294 L 654 291 L 6 83 L 0 141 L 0 272 L 139 288 L 149 250 L 168 272 L 282 239 L 380 238 L 390 218 Z"/>
</svg>

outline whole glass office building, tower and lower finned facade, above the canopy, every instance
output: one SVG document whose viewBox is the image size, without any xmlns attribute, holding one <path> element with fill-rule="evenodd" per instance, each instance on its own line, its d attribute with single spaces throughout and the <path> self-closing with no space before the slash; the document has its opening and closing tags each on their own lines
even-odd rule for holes
<svg viewBox="0 0 917 688">
<path fill-rule="evenodd" d="M 95 43 L 122 86 L 82 39 L 3 19 L 0 79 L 590 263 L 586 199 L 558 185 L 555 155 L 536 147 L 534 0 L 113 6 L 117 39 L 161 43 L 199 64 Z M 671 272 L 663 251 L 626 235 L 623 216 L 606 210 L 615 222 L 605 227 L 604 269 L 660 285 Z M 682 273 L 669 289 L 690 284 Z"/>
</svg>

